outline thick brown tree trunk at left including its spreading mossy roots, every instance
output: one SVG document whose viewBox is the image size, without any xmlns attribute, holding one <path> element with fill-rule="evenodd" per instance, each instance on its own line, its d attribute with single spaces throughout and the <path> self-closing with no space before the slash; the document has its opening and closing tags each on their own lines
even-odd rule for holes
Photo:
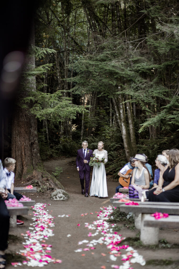
<svg viewBox="0 0 179 269">
<path fill-rule="evenodd" d="M 35 36 L 32 34 L 31 45 L 35 45 Z M 24 72 L 30 72 L 35 68 L 35 55 L 29 52 L 24 63 Z M 36 91 L 35 76 L 24 76 L 21 82 L 19 98 L 22 100 L 30 91 Z M 33 181 L 49 186 L 49 189 L 64 189 L 63 186 L 43 168 L 40 157 L 37 119 L 30 113 L 32 103 L 27 107 L 17 106 L 14 110 L 12 122 L 12 157 L 16 160 L 16 179 L 23 179 L 28 184 Z"/>
</svg>

